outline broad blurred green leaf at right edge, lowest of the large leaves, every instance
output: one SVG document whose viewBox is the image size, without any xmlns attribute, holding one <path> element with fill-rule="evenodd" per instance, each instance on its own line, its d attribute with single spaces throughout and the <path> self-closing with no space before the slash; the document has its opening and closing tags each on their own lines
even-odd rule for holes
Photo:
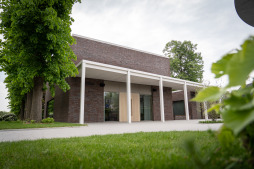
<svg viewBox="0 0 254 169">
<path fill-rule="evenodd" d="M 224 125 L 238 135 L 245 127 L 254 121 L 254 109 L 246 111 L 227 110 L 222 113 Z"/>
</svg>

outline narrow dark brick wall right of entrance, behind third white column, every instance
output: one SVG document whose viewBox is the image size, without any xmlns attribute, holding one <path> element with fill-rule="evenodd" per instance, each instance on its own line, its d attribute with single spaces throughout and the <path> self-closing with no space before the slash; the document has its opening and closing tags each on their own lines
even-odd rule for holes
<svg viewBox="0 0 254 169">
<path fill-rule="evenodd" d="M 173 106 L 172 106 L 172 89 L 168 87 L 163 88 L 164 96 L 164 116 L 165 120 L 174 120 Z M 158 86 L 152 86 L 152 98 L 153 98 L 153 120 L 161 120 L 160 112 L 160 92 Z"/>
</svg>

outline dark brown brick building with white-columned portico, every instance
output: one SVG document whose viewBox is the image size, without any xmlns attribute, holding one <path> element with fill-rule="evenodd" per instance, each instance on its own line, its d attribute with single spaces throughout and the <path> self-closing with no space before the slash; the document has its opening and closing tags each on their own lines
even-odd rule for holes
<svg viewBox="0 0 254 169">
<path fill-rule="evenodd" d="M 116 44 L 73 35 L 79 75 L 68 78 L 71 89 L 46 92 L 46 107 L 54 100 L 54 119 L 59 122 L 136 122 L 178 119 L 174 115 L 175 90 L 183 90 L 184 119 L 201 118 L 188 98 L 199 83 L 170 77 L 167 57 Z M 181 98 L 181 99 L 180 99 Z M 189 106 L 190 105 L 190 106 Z"/>
</svg>

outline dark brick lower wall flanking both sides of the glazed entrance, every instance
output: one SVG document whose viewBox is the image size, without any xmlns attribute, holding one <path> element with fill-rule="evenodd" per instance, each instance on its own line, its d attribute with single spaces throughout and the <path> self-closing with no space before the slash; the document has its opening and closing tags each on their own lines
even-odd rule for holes
<svg viewBox="0 0 254 169">
<path fill-rule="evenodd" d="M 68 84 L 71 89 L 63 92 L 56 88 L 55 104 L 54 104 L 54 119 L 58 122 L 79 122 L 80 110 L 80 78 L 68 78 Z M 104 122 L 104 88 L 100 86 L 104 83 L 103 80 L 86 79 L 85 87 L 85 122 Z M 111 84 L 112 82 L 105 82 Z M 115 84 L 117 82 L 113 82 Z M 122 83 L 117 83 L 122 84 Z M 134 91 L 141 89 L 143 85 L 133 84 Z M 120 86 L 121 87 L 121 86 Z M 151 90 L 153 120 L 160 121 L 160 96 L 159 87 L 143 86 Z M 149 91 L 139 90 L 141 94 L 149 94 Z M 164 114 L 165 120 L 173 120 L 173 105 L 172 105 L 172 89 L 164 87 Z"/>
</svg>

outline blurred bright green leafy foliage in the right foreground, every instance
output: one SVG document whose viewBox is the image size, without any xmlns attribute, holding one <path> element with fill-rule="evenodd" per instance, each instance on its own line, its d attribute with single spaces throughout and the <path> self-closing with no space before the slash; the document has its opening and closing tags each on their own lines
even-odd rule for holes
<svg viewBox="0 0 254 169">
<path fill-rule="evenodd" d="M 246 84 L 246 81 L 253 70 L 254 37 L 251 36 L 241 45 L 240 50 L 226 54 L 212 65 L 212 72 L 216 78 L 227 75 L 228 84 L 221 88 L 207 87 L 193 99 L 193 101 L 202 102 L 216 101 L 222 96 L 225 97 L 220 104 L 211 108 L 220 113 L 224 120 L 218 140 L 222 147 L 232 148 L 233 138 L 241 139 L 239 144 L 249 154 L 246 161 L 252 165 L 254 165 L 254 85 L 253 79 L 250 84 Z M 225 150 L 229 151 L 228 148 Z M 232 155 L 229 154 L 228 158 L 231 157 Z M 240 163 L 240 161 L 235 161 L 235 163 L 238 162 Z"/>
</svg>

